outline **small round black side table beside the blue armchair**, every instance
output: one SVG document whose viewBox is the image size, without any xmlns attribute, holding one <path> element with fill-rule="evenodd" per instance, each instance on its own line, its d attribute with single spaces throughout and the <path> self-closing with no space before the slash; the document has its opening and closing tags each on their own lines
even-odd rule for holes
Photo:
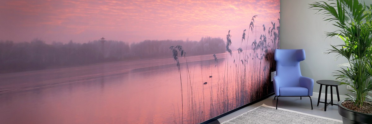
<svg viewBox="0 0 372 124">
<path fill-rule="evenodd" d="M 337 105 L 337 104 L 333 104 L 333 91 L 332 91 L 332 87 L 336 87 L 337 100 L 340 101 L 339 87 L 338 87 L 340 85 L 340 82 L 334 81 L 334 80 L 318 80 L 317 83 L 320 84 L 319 97 L 318 97 L 318 105 L 317 106 L 319 106 L 319 103 L 324 103 L 324 111 L 327 111 L 327 105 L 329 105 L 329 104 L 331 104 L 331 105 Z M 320 94 L 322 92 L 322 86 L 323 85 L 325 85 L 325 99 L 324 99 L 324 102 L 320 102 Z M 328 95 L 327 89 L 328 89 L 328 86 L 330 86 L 330 89 L 331 89 L 331 102 L 327 102 L 327 95 Z"/>
</svg>

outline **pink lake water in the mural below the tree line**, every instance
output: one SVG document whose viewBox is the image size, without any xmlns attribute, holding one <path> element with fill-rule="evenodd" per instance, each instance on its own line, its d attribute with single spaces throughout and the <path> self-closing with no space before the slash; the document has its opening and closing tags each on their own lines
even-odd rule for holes
<svg viewBox="0 0 372 124">
<path fill-rule="evenodd" d="M 217 57 L 180 58 L 181 71 L 163 58 L 0 74 L 0 124 L 201 123 L 260 97 Z"/>
</svg>

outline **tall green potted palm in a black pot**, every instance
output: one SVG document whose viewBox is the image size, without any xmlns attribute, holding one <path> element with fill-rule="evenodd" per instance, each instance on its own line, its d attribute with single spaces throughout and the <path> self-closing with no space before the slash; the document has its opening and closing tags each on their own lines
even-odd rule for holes
<svg viewBox="0 0 372 124">
<path fill-rule="evenodd" d="M 371 5 L 358 0 L 329 0 L 314 2 L 310 8 L 318 10 L 324 21 L 331 22 L 338 29 L 325 32 L 327 37 L 339 37 L 341 45 L 331 45 L 327 54 L 336 53 L 346 57 L 348 63 L 341 64 L 334 72 L 336 80 L 342 85 L 352 87 L 345 101 L 340 101 L 339 114 L 344 124 L 371 124 L 372 99 L 368 92 L 372 90 L 372 15 Z"/>
</svg>

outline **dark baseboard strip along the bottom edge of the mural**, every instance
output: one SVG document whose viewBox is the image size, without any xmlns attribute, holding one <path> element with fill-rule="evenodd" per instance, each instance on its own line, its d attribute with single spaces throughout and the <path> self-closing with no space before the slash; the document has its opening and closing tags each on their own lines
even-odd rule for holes
<svg viewBox="0 0 372 124">
<path fill-rule="evenodd" d="M 225 112 L 224 114 L 218 115 L 218 116 L 216 116 L 214 118 L 211 118 L 209 120 L 206 120 L 206 121 L 204 121 L 204 122 L 202 122 L 200 124 L 209 124 L 209 123 L 212 123 L 212 122 L 218 122 L 218 120 L 217 120 L 218 118 L 224 117 L 224 116 L 226 116 L 228 114 L 231 114 L 232 112 L 238 111 L 239 109 L 242 109 L 242 108 L 244 108 L 246 106 L 250 106 L 250 105 L 253 105 L 253 104 L 257 103 L 257 102 L 263 101 L 264 99 L 267 99 L 267 98 L 269 98 L 272 95 L 275 95 L 275 93 L 270 93 L 269 95 L 264 96 L 264 97 L 262 97 L 260 99 L 257 99 L 256 101 L 253 101 L 253 102 L 250 102 L 250 103 L 248 103 L 246 105 L 242 105 L 242 106 L 240 106 L 238 108 L 232 109 L 232 110 L 230 110 L 228 112 Z"/>
</svg>

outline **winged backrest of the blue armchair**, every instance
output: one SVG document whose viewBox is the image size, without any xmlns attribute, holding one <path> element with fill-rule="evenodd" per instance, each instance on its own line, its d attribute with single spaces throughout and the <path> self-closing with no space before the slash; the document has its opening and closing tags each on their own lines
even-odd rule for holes
<svg viewBox="0 0 372 124">
<path fill-rule="evenodd" d="M 276 76 L 282 79 L 280 86 L 299 86 L 300 61 L 305 60 L 305 50 L 276 49 Z"/>
</svg>

